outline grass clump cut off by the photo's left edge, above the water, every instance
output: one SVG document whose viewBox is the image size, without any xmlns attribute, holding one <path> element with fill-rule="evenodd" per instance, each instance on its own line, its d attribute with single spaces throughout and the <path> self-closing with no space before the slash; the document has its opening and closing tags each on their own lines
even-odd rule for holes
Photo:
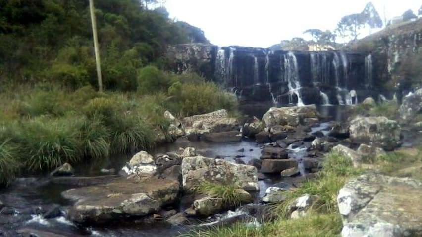
<svg viewBox="0 0 422 237">
<path fill-rule="evenodd" d="M 0 143 L 0 186 L 8 186 L 19 170 L 17 149 L 8 141 Z"/>
</svg>

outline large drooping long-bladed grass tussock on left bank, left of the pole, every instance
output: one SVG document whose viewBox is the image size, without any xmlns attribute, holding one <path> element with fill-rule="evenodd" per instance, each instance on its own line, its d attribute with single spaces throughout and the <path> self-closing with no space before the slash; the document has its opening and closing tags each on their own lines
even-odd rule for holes
<svg viewBox="0 0 422 237">
<path fill-rule="evenodd" d="M 16 140 L 23 147 L 28 170 L 49 170 L 80 158 L 78 130 L 73 121 L 39 118 L 22 124 Z"/>
</svg>

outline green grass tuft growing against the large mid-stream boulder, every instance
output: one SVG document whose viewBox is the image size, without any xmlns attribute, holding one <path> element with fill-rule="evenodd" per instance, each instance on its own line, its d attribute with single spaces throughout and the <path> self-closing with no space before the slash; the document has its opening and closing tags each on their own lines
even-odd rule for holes
<svg viewBox="0 0 422 237">
<path fill-rule="evenodd" d="M 197 193 L 209 195 L 215 198 L 221 198 L 226 207 L 236 207 L 241 205 L 240 187 L 236 184 L 219 184 L 203 182 L 193 188 Z"/>
</svg>

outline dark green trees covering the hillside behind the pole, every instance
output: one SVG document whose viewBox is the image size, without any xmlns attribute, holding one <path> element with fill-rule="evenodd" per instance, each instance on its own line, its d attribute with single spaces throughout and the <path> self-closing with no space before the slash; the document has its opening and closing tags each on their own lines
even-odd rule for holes
<svg viewBox="0 0 422 237">
<path fill-rule="evenodd" d="M 165 8 L 147 10 L 154 2 L 95 1 L 106 88 L 129 90 L 139 68 L 165 67 L 169 44 L 206 41 Z M 93 55 L 88 0 L 0 0 L 0 81 L 95 85 Z"/>
</svg>

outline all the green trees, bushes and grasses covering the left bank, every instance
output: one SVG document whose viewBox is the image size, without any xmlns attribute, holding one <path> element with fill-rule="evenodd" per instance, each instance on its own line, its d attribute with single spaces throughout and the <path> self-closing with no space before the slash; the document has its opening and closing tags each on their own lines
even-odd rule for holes
<svg viewBox="0 0 422 237">
<path fill-rule="evenodd" d="M 200 29 L 138 0 L 95 2 L 105 93 L 88 1 L 0 0 L 0 185 L 169 140 L 165 110 L 235 110 L 234 95 L 199 75 L 165 72 L 165 48 L 206 40 Z"/>
</svg>

